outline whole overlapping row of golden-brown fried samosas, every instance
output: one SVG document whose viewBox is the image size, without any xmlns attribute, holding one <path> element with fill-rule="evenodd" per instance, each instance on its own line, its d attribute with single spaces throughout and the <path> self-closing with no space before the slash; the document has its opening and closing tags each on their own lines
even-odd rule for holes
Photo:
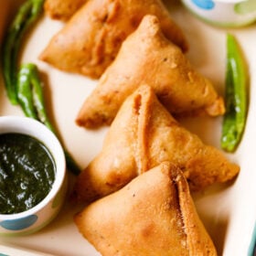
<svg viewBox="0 0 256 256">
<path fill-rule="evenodd" d="M 76 123 L 110 125 L 72 193 L 84 204 L 74 217 L 81 234 L 107 256 L 217 255 L 190 191 L 232 180 L 240 167 L 176 121 L 225 112 L 188 61 L 182 30 L 160 0 L 64 1 L 63 16 L 50 7 L 58 2 L 46 1 L 46 12 L 66 23 L 40 59 L 99 79 Z"/>
</svg>

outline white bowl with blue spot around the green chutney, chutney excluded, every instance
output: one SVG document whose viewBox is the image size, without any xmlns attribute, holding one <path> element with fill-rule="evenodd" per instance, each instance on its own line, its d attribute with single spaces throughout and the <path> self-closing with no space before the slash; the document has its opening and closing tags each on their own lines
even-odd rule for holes
<svg viewBox="0 0 256 256">
<path fill-rule="evenodd" d="M 66 192 L 66 161 L 59 140 L 48 128 L 33 119 L 18 116 L 0 117 L 1 133 L 23 133 L 45 144 L 56 165 L 55 181 L 48 196 L 37 206 L 15 214 L 0 214 L 0 235 L 16 236 L 34 233 L 45 227 L 59 213 Z"/>
</svg>

